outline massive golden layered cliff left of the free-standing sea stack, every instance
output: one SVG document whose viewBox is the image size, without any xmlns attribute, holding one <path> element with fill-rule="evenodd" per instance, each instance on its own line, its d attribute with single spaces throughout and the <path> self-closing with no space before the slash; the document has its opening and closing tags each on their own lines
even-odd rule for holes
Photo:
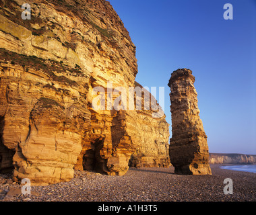
<svg viewBox="0 0 256 215">
<path fill-rule="evenodd" d="M 131 155 L 167 166 L 165 116 L 92 108 L 94 87 L 135 86 L 135 46 L 110 3 L 30 1 L 30 20 L 22 3 L 0 1 L 0 170 L 46 185 L 74 168 L 123 175 Z"/>
</svg>

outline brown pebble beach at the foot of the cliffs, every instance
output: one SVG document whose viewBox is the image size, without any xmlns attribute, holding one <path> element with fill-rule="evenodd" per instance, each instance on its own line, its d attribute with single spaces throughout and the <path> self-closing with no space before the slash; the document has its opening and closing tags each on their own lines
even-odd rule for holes
<svg viewBox="0 0 256 215">
<path fill-rule="evenodd" d="M 220 169 L 211 165 L 212 175 L 176 175 L 174 167 L 130 168 L 124 176 L 75 171 L 69 182 L 31 187 L 11 175 L 0 174 L 0 202 L 255 202 L 256 173 Z M 224 179 L 233 182 L 233 193 L 224 194 Z"/>
</svg>

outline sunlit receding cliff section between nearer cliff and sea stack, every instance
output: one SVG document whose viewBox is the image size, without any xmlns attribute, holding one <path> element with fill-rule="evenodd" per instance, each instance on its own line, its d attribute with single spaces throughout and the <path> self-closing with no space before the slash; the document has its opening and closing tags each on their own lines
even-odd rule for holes
<svg viewBox="0 0 256 215">
<path fill-rule="evenodd" d="M 149 98 L 152 97 L 151 93 L 144 89 L 139 83 L 135 82 L 135 87 L 143 89 Z M 137 99 L 139 95 L 135 96 Z M 145 103 L 145 97 L 142 95 L 139 97 L 139 101 L 142 104 Z M 152 97 L 154 99 L 154 97 Z M 148 99 L 150 100 L 150 99 Z M 146 101 L 150 102 L 150 101 Z M 152 102 L 154 105 L 158 105 L 156 101 Z M 153 108 L 156 110 L 157 108 Z M 165 120 L 165 115 L 160 107 L 158 113 L 161 113 L 160 118 L 152 118 L 153 110 L 137 110 L 135 118 L 129 120 L 135 126 L 134 134 L 131 135 L 131 139 L 136 143 L 135 153 L 131 156 L 129 161 L 130 167 L 169 167 L 169 124 Z M 138 132 L 139 131 L 139 132 Z"/>
</svg>

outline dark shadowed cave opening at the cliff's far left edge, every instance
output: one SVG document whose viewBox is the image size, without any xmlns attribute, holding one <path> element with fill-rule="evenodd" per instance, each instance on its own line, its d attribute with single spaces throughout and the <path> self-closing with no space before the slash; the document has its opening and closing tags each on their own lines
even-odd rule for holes
<svg viewBox="0 0 256 215">
<path fill-rule="evenodd" d="M 0 173 L 10 173 L 13 171 L 14 151 L 3 144 L 4 117 L 0 116 Z"/>
</svg>

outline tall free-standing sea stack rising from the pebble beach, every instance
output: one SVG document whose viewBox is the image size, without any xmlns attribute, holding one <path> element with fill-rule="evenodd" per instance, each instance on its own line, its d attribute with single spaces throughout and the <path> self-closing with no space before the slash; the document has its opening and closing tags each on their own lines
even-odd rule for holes
<svg viewBox="0 0 256 215">
<path fill-rule="evenodd" d="M 194 83 L 189 69 L 174 71 L 168 83 L 172 113 L 170 162 L 175 173 L 183 175 L 211 174 L 207 136 L 199 118 Z"/>
</svg>

